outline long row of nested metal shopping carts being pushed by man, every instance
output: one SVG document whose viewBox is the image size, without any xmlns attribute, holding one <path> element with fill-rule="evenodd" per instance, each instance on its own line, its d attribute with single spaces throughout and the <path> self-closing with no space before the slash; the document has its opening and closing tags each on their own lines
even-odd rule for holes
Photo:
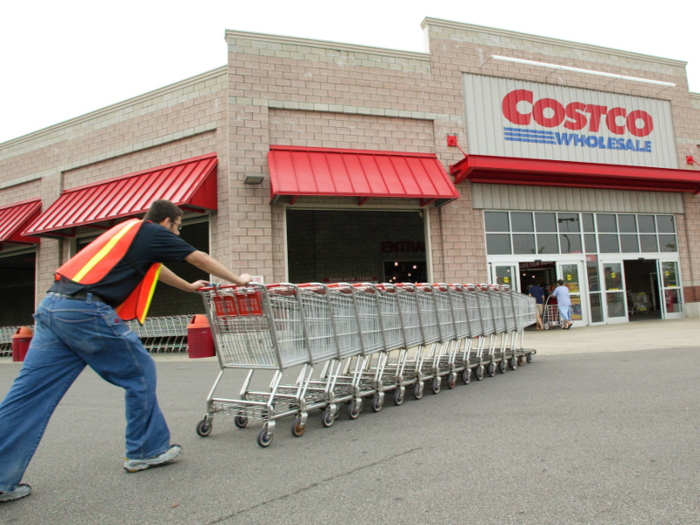
<svg viewBox="0 0 700 525">
<path fill-rule="evenodd" d="M 515 370 L 535 353 L 523 348 L 534 299 L 507 286 L 251 283 L 200 293 L 221 368 L 197 425 L 202 437 L 215 414 L 228 414 L 239 428 L 262 420 L 257 443 L 267 447 L 282 417 L 293 416 L 300 437 L 312 410 L 330 427 L 343 403 L 357 419 L 365 400 L 378 412 L 387 396 L 401 405 L 407 391 L 416 399 L 426 388 L 437 394 L 458 378 L 467 384 L 472 375 Z M 248 370 L 237 399 L 214 395 L 228 369 Z M 264 371 L 272 380 L 256 390 L 254 376 Z"/>
</svg>

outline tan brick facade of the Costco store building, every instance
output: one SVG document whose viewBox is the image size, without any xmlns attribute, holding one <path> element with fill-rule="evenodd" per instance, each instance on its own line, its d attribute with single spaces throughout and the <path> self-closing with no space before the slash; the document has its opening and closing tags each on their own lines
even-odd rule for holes
<svg viewBox="0 0 700 525">
<path fill-rule="evenodd" d="M 685 63 L 441 20 L 426 19 L 423 28 L 425 53 L 229 31 L 224 68 L 0 144 L 0 204 L 41 197 L 46 209 L 63 189 L 217 152 L 212 255 L 235 272 L 282 281 L 285 208 L 270 205 L 270 145 L 434 153 L 448 169 L 462 158 L 447 147 L 448 134 L 469 152 L 463 73 L 669 100 L 679 166 L 700 171 L 686 163 L 687 154 L 700 157 L 700 95 L 688 92 Z M 491 55 L 676 87 L 552 72 Z M 264 182 L 246 185 L 247 175 L 263 175 Z M 486 281 L 483 212 L 472 206 L 468 182 L 458 190 L 459 200 L 427 209 L 432 278 Z M 371 202 L 419 209 L 415 200 Z M 685 194 L 684 202 L 678 239 L 683 284 L 692 288 L 700 286 L 700 197 Z M 301 198 L 298 204 L 356 206 L 350 199 Z M 38 297 L 60 256 L 58 241 L 42 242 Z"/>
</svg>

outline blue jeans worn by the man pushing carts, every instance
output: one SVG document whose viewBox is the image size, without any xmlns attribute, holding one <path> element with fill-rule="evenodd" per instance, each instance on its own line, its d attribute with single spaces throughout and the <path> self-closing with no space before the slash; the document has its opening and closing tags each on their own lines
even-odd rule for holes
<svg viewBox="0 0 700 525">
<path fill-rule="evenodd" d="M 169 448 L 170 431 L 156 399 L 155 362 L 112 307 L 49 292 L 34 319 L 24 365 L 0 404 L 0 491 L 14 490 L 21 481 L 51 414 L 85 365 L 126 390 L 127 458 Z"/>
</svg>

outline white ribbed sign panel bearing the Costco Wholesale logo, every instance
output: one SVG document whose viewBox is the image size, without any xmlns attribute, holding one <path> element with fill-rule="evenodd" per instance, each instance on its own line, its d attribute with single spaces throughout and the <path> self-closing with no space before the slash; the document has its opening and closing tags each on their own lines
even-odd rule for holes
<svg viewBox="0 0 700 525">
<path fill-rule="evenodd" d="M 464 75 L 469 153 L 678 168 L 671 104 Z"/>
</svg>

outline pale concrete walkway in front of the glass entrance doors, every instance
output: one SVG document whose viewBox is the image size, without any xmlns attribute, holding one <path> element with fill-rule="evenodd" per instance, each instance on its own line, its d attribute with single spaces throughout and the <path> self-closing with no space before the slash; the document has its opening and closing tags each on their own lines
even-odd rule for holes
<svg viewBox="0 0 700 525">
<path fill-rule="evenodd" d="M 700 348 L 700 318 L 651 320 L 525 332 L 525 346 L 538 355 Z"/>
</svg>

